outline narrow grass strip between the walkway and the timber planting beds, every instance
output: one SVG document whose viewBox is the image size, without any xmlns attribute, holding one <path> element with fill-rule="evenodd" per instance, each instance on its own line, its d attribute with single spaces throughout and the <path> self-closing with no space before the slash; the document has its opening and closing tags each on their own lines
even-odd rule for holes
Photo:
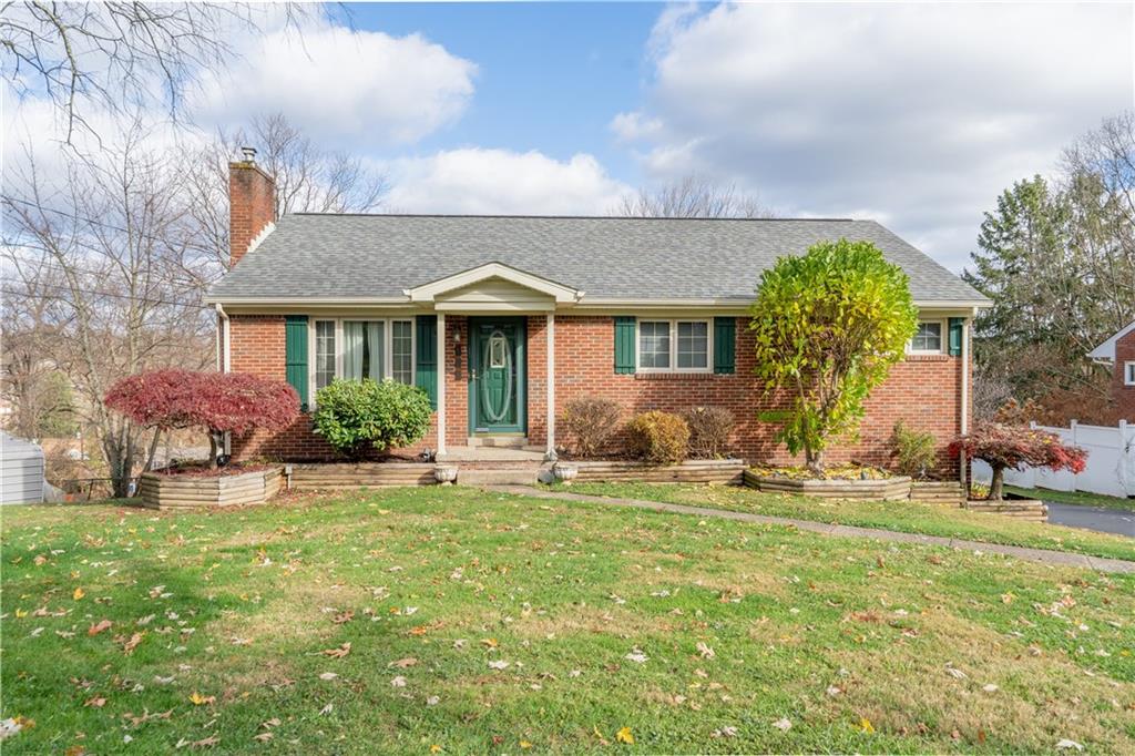
<svg viewBox="0 0 1135 756">
<path fill-rule="evenodd" d="M 575 494 L 644 498 L 772 516 L 882 528 L 989 544 L 1031 546 L 1091 556 L 1135 560 L 1135 539 L 999 514 L 967 512 L 957 506 L 917 502 L 852 502 L 812 496 L 767 494 L 738 486 L 674 484 L 575 484 Z"/>
</svg>

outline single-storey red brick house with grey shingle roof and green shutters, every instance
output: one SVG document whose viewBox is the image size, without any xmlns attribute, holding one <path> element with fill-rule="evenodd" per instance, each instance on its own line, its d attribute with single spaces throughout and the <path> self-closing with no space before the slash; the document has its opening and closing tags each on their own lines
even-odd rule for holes
<svg viewBox="0 0 1135 756">
<path fill-rule="evenodd" d="M 753 375 L 748 308 L 760 272 L 822 240 L 876 244 L 920 310 L 907 359 L 867 402 L 860 439 L 833 460 L 884 464 L 896 420 L 943 447 L 969 417 L 969 324 L 987 304 L 873 221 L 505 216 L 272 217 L 272 179 L 230 166 L 232 269 L 209 293 L 222 369 L 287 379 L 310 410 L 334 378 L 424 388 L 436 412 L 412 452 L 489 443 L 557 447 L 568 401 L 595 394 L 628 417 L 724 406 L 735 450 L 787 462 Z M 234 438 L 236 459 L 328 459 L 310 415 Z"/>
</svg>

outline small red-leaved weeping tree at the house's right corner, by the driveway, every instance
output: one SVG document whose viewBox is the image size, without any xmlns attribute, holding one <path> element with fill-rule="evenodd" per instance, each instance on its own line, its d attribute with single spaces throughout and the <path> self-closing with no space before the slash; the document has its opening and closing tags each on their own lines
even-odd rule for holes
<svg viewBox="0 0 1135 756">
<path fill-rule="evenodd" d="M 1027 426 L 1007 426 L 983 422 L 972 434 L 958 436 L 950 443 L 950 454 L 965 454 L 966 460 L 984 460 L 993 468 L 990 498 L 1001 499 L 1001 481 L 1008 469 L 1024 467 L 1048 468 L 1052 471 L 1083 472 L 1087 452 L 1069 446 L 1056 434 Z"/>
</svg>

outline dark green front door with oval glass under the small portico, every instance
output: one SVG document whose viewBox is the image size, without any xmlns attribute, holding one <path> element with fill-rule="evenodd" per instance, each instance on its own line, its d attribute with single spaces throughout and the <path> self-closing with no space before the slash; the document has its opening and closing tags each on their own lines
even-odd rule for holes
<svg viewBox="0 0 1135 756">
<path fill-rule="evenodd" d="M 469 319 L 469 430 L 526 431 L 523 318 Z"/>
</svg>

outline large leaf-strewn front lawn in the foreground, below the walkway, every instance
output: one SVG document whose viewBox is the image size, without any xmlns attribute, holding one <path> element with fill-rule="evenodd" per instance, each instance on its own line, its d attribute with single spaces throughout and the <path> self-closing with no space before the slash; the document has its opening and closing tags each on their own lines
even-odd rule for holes
<svg viewBox="0 0 1135 756">
<path fill-rule="evenodd" d="M 1135 750 L 1135 576 L 462 487 L 0 535 L 6 756 Z"/>
</svg>

